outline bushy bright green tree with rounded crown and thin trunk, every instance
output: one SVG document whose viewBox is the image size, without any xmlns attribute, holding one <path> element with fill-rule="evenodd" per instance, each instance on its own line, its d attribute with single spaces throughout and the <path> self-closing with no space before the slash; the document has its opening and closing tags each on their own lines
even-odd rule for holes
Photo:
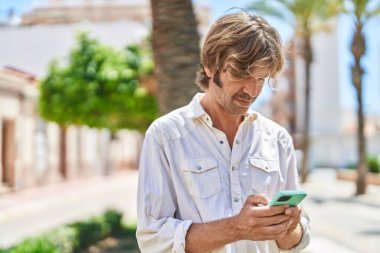
<svg viewBox="0 0 380 253">
<path fill-rule="evenodd" d="M 87 125 L 145 130 L 158 116 L 158 106 L 139 79 L 153 72 L 149 49 L 132 45 L 117 50 L 79 33 L 67 64 L 50 64 L 40 83 L 41 116 L 61 129 L 60 171 L 66 176 L 66 128 Z"/>
</svg>

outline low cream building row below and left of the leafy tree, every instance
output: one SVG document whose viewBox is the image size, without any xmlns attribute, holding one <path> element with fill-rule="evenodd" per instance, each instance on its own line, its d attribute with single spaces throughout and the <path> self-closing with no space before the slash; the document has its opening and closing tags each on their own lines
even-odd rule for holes
<svg viewBox="0 0 380 253">
<path fill-rule="evenodd" d="M 11 136 L 4 136 L 5 132 L 0 131 L 0 154 L 6 150 L 14 165 L 12 168 L 5 166 L 7 173 L 4 173 L 2 165 L 5 160 L 3 155 L 0 156 L 0 193 L 65 180 L 59 172 L 59 127 L 39 118 L 36 82 L 18 75 L 0 69 L 0 129 L 6 125 L 14 126 Z M 141 135 L 125 130 L 112 142 L 110 138 L 110 132 L 105 129 L 69 127 L 67 179 L 136 168 Z M 11 145 L 4 146 L 5 139 L 10 140 Z M 9 175 L 12 176 L 11 183 L 4 180 Z"/>
</svg>

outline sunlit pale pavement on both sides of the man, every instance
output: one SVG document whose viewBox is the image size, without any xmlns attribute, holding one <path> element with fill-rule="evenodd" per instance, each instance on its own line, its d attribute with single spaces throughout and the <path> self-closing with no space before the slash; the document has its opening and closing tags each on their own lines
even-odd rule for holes
<svg viewBox="0 0 380 253">
<path fill-rule="evenodd" d="M 74 180 L 0 197 L 0 247 L 54 226 L 86 219 L 114 207 L 133 223 L 137 171 Z M 303 185 L 312 219 L 312 242 L 304 253 L 379 253 L 380 187 L 353 197 L 352 182 L 335 180 L 333 170 L 315 171 Z"/>
</svg>

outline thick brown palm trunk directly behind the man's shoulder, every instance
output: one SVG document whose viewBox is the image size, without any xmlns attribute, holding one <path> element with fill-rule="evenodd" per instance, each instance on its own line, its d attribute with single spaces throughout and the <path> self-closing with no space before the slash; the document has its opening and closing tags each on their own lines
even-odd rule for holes
<svg viewBox="0 0 380 253">
<path fill-rule="evenodd" d="M 151 0 L 153 56 L 161 114 L 190 101 L 197 91 L 199 34 L 191 0 Z"/>
</svg>

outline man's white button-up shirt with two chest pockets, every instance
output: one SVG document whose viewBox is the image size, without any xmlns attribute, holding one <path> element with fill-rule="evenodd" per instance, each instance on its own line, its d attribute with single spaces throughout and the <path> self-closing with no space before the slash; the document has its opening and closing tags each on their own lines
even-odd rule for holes
<svg viewBox="0 0 380 253">
<path fill-rule="evenodd" d="M 237 215 L 247 196 L 269 198 L 298 189 L 293 142 L 287 131 L 249 111 L 232 149 L 213 127 L 197 94 L 185 107 L 158 120 L 145 135 L 139 167 L 137 239 L 142 253 L 185 252 L 192 223 Z M 290 252 L 309 242 L 308 218 L 303 237 Z M 275 253 L 275 241 L 238 241 L 212 253 Z"/>
</svg>

